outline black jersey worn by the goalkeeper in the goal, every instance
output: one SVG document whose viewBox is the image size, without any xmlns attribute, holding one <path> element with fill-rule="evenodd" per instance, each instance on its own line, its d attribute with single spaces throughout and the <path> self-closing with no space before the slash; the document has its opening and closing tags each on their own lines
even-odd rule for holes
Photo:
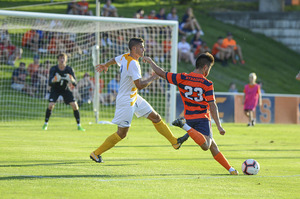
<svg viewBox="0 0 300 199">
<path fill-rule="evenodd" d="M 51 80 L 55 76 L 55 74 L 58 73 L 62 79 L 59 82 L 54 82 L 52 83 Z M 72 75 L 73 78 L 75 79 L 75 82 L 72 83 L 73 86 L 76 86 L 76 78 L 73 69 L 70 66 L 66 66 L 64 70 L 60 70 L 58 68 L 58 65 L 52 66 L 50 69 L 50 74 L 49 74 L 49 85 L 51 86 L 51 90 L 57 90 L 57 91 L 63 91 L 63 90 L 70 90 L 69 88 L 69 82 L 68 80 L 65 80 L 64 78 L 66 75 Z"/>
</svg>

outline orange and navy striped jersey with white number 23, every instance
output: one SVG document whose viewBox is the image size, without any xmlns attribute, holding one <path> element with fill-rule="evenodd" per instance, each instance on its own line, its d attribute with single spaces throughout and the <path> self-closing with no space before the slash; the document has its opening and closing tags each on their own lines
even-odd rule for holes
<svg viewBox="0 0 300 199">
<path fill-rule="evenodd" d="M 189 74 L 167 72 L 166 80 L 178 87 L 186 120 L 211 119 L 208 102 L 215 101 L 212 81 L 194 72 Z"/>
</svg>

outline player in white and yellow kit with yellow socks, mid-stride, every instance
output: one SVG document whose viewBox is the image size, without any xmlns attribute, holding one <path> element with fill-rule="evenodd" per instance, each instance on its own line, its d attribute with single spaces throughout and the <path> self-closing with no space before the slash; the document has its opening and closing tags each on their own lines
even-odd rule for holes
<svg viewBox="0 0 300 199">
<path fill-rule="evenodd" d="M 172 144 L 174 149 L 179 149 L 187 138 L 175 138 L 169 127 L 162 121 L 160 115 L 143 99 L 138 90 L 144 89 L 152 81 L 158 79 L 156 74 L 142 78 L 138 59 L 144 56 L 144 40 L 142 38 L 131 38 L 129 41 L 129 53 L 110 59 L 104 64 L 96 66 L 98 72 L 106 72 L 108 67 L 117 64 L 120 67 L 120 88 L 116 99 L 115 116 L 112 122 L 118 125 L 116 133 L 110 135 L 103 144 L 90 154 L 95 162 L 102 161 L 102 153 L 111 149 L 119 141 L 126 137 L 131 125 L 133 114 L 137 117 L 145 117 L 152 121 L 156 130 Z"/>
</svg>

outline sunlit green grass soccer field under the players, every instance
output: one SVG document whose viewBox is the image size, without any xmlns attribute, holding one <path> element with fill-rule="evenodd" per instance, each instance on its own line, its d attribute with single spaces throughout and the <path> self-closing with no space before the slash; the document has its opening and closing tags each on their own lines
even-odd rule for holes
<svg viewBox="0 0 300 199">
<path fill-rule="evenodd" d="M 114 125 L 85 124 L 73 118 L 0 123 L 0 198 L 299 198 L 299 125 L 223 124 L 214 138 L 237 170 L 231 176 L 189 139 L 179 150 L 149 121 L 135 120 L 128 137 L 89 159 Z M 170 127 L 175 136 L 185 132 Z M 244 160 L 260 163 L 256 176 L 241 174 Z"/>
</svg>

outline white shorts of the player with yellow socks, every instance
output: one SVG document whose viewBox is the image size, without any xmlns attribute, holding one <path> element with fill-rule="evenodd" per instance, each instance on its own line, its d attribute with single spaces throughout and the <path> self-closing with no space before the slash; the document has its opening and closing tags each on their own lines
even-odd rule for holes
<svg viewBox="0 0 300 199">
<path fill-rule="evenodd" d="M 133 114 L 138 118 L 147 118 L 153 112 L 152 106 L 140 95 L 137 95 L 137 100 L 133 106 L 116 106 L 115 117 L 112 123 L 119 127 L 130 127 Z"/>
</svg>

